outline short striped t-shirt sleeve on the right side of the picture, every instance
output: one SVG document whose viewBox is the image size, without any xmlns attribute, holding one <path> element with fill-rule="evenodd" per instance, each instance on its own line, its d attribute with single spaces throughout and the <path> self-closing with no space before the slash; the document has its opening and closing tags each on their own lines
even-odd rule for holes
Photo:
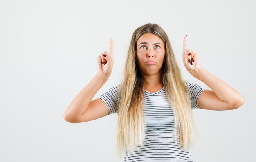
<svg viewBox="0 0 256 162">
<path fill-rule="evenodd" d="M 198 98 L 202 93 L 202 91 L 205 90 L 205 88 L 196 83 L 185 82 L 185 84 L 189 91 L 189 100 L 190 100 L 192 109 L 201 109 L 198 105 Z"/>
</svg>

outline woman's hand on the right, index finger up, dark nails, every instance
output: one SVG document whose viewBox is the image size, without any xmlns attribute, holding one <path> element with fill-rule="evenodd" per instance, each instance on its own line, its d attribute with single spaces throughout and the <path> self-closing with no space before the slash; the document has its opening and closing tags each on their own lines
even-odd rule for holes
<svg viewBox="0 0 256 162">
<path fill-rule="evenodd" d="M 183 40 L 183 63 L 189 73 L 193 74 L 200 70 L 202 67 L 200 65 L 199 55 L 194 51 L 190 51 L 190 49 L 186 49 L 186 39 L 187 35 L 184 37 Z"/>
</svg>

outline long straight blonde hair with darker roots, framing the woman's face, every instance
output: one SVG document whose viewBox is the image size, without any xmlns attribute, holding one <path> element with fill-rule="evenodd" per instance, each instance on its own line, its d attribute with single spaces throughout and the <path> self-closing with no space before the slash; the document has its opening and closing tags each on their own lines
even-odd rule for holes
<svg viewBox="0 0 256 162">
<path fill-rule="evenodd" d="M 159 25 L 149 23 L 134 31 L 128 49 L 118 112 L 117 154 L 119 156 L 127 149 L 134 153 L 138 144 L 144 146 L 146 129 L 142 108 L 144 80 L 139 72 L 136 57 L 137 40 L 144 33 L 153 33 L 164 42 L 162 84 L 175 116 L 175 139 L 180 141 L 183 149 L 187 149 L 193 143 L 195 124 L 188 89 L 182 80 L 167 34 Z"/>
</svg>

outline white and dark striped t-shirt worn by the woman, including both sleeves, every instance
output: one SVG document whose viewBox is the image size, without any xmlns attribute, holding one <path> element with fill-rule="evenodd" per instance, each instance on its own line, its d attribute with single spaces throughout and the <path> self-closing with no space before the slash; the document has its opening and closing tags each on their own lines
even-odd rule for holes
<svg viewBox="0 0 256 162">
<path fill-rule="evenodd" d="M 198 97 L 204 91 L 199 84 L 186 82 L 192 109 L 198 108 Z M 116 85 L 100 97 L 109 114 L 117 113 L 121 98 L 121 84 Z M 125 162 L 193 162 L 189 149 L 185 150 L 174 142 L 174 114 L 164 87 L 155 93 L 145 91 L 143 101 L 144 120 L 146 120 L 145 144 L 137 146 L 135 154 L 126 151 Z"/>
</svg>

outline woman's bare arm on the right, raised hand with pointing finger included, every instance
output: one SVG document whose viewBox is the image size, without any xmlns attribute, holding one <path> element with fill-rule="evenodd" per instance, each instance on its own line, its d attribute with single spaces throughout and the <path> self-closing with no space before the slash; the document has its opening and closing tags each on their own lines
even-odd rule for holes
<svg viewBox="0 0 256 162">
<path fill-rule="evenodd" d="M 211 90 L 204 90 L 198 98 L 198 106 L 208 110 L 231 110 L 240 107 L 244 98 L 235 89 L 206 71 L 200 64 L 198 53 L 186 48 L 187 35 L 183 40 L 183 63 L 193 77 L 204 82 Z"/>
</svg>

